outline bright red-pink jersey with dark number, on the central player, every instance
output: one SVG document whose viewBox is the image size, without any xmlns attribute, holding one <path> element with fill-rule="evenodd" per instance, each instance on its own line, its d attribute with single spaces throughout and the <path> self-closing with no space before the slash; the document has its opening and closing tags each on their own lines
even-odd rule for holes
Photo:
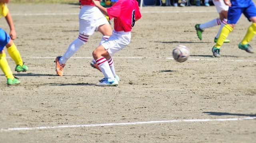
<svg viewBox="0 0 256 143">
<path fill-rule="evenodd" d="M 135 20 L 141 18 L 140 8 L 136 0 L 118 0 L 107 8 L 109 19 L 114 18 L 115 31 L 131 31 Z"/>
</svg>

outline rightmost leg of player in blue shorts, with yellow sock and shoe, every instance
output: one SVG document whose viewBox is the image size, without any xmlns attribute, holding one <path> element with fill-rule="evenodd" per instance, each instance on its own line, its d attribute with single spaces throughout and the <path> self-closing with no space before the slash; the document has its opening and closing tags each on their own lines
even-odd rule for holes
<svg viewBox="0 0 256 143">
<path fill-rule="evenodd" d="M 242 42 L 239 43 L 238 48 L 243 49 L 248 53 L 254 53 L 254 51 L 252 51 L 252 47 L 248 44 L 256 34 L 256 8 L 253 3 L 245 10 L 244 15 L 252 22 L 252 25 L 248 27 L 246 35 Z"/>
</svg>

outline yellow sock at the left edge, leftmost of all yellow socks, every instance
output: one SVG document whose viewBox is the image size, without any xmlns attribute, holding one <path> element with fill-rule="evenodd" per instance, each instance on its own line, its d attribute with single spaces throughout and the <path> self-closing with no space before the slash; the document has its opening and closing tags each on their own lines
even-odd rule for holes
<svg viewBox="0 0 256 143">
<path fill-rule="evenodd" d="M 12 74 L 12 70 L 10 69 L 10 67 L 8 65 L 8 62 L 6 60 L 6 54 L 5 53 L 0 54 L 0 68 L 4 72 L 4 75 L 6 76 L 6 78 L 14 79 L 14 76 Z"/>
</svg>

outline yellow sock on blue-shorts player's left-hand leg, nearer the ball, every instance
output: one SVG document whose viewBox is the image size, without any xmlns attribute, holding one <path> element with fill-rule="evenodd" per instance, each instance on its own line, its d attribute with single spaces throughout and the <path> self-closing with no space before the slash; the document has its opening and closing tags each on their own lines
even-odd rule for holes
<svg viewBox="0 0 256 143">
<path fill-rule="evenodd" d="M 220 46 L 224 43 L 224 40 L 228 37 L 228 34 L 233 30 L 232 27 L 230 27 L 230 25 L 226 24 L 221 32 L 220 32 L 220 36 L 218 37 L 218 40 L 215 44 L 214 47 L 220 48 Z"/>
</svg>

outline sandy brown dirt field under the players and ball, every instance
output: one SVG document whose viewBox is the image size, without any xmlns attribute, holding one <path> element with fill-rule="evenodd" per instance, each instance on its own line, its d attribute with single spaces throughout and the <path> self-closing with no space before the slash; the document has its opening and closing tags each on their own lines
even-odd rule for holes
<svg viewBox="0 0 256 143">
<path fill-rule="evenodd" d="M 22 83 L 7 86 L 0 72 L 1 143 L 256 141 L 256 53 L 238 49 L 251 24 L 244 16 L 228 36 L 231 43 L 223 44 L 222 57 L 214 58 L 219 26 L 205 29 L 201 41 L 194 29 L 218 18 L 214 6 L 143 7 L 130 45 L 113 56 L 119 85 L 98 87 L 103 74 L 90 61 L 99 32 L 66 63 L 64 76 L 55 72 L 55 57 L 78 37 L 78 5 L 9 9 L 14 42 L 29 71 L 14 72 L 7 54 Z M 0 25 L 9 32 L 4 18 Z M 172 59 L 176 45 L 189 47 L 188 61 Z M 256 51 L 255 37 L 250 45 Z"/>
</svg>

